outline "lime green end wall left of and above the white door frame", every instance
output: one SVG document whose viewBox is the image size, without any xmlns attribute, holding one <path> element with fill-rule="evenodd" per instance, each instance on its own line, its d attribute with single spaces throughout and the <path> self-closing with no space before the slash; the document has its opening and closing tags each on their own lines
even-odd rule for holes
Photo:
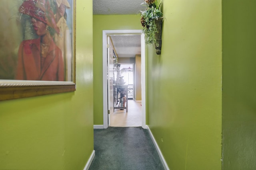
<svg viewBox="0 0 256 170">
<path fill-rule="evenodd" d="M 142 29 L 140 16 L 93 16 L 94 125 L 103 125 L 102 30 L 118 29 Z"/>
</svg>

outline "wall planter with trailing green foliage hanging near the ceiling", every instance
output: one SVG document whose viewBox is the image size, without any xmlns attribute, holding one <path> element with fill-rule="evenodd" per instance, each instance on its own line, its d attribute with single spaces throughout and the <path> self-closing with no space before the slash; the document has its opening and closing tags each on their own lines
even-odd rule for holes
<svg viewBox="0 0 256 170">
<path fill-rule="evenodd" d="M 160 11 L 162 0 L 145 0 L 146 10 L 141 11 L 142 32 L 145 34 L 145 43 L 154 45 L 156 54 L 161 54 L 163 13 Z"/>
</svg>

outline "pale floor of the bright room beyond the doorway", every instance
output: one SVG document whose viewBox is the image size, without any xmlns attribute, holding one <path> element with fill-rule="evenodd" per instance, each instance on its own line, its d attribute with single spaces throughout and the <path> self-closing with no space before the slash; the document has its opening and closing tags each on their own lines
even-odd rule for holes
<svg viewBox="0 0 256 170">
<path fill-rule="evenodd" d="M 142 111 L 141 102 L 128 100 L 128 112 L 126 109 L 115 109 L 113 114 L 110 114 L 110 126 L 112 127 L 141 127 L 142 126 Z"/>
</svg>

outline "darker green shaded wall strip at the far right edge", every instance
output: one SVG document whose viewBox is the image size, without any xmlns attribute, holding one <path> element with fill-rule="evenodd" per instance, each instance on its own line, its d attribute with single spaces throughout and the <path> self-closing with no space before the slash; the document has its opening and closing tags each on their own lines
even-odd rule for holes
<svg viewBox="0 0 256 170">
<path fill-rule="evenodd" d="M 255 170 L 256 1 L 223 0 L 223 170 Z"/>
</svg>

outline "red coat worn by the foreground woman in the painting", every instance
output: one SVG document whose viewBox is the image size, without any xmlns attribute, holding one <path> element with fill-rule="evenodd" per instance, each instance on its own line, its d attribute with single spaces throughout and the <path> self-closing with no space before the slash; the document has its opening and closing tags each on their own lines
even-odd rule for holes
<svg viewBox="0 0 256 170">
<path fill-rule="evenodd" d="M 16 80 L 64 81 L 62 52 L 53 40 L 45 58 L 41 57 L 40 39 L 22 41 Z"/>
</svg>

